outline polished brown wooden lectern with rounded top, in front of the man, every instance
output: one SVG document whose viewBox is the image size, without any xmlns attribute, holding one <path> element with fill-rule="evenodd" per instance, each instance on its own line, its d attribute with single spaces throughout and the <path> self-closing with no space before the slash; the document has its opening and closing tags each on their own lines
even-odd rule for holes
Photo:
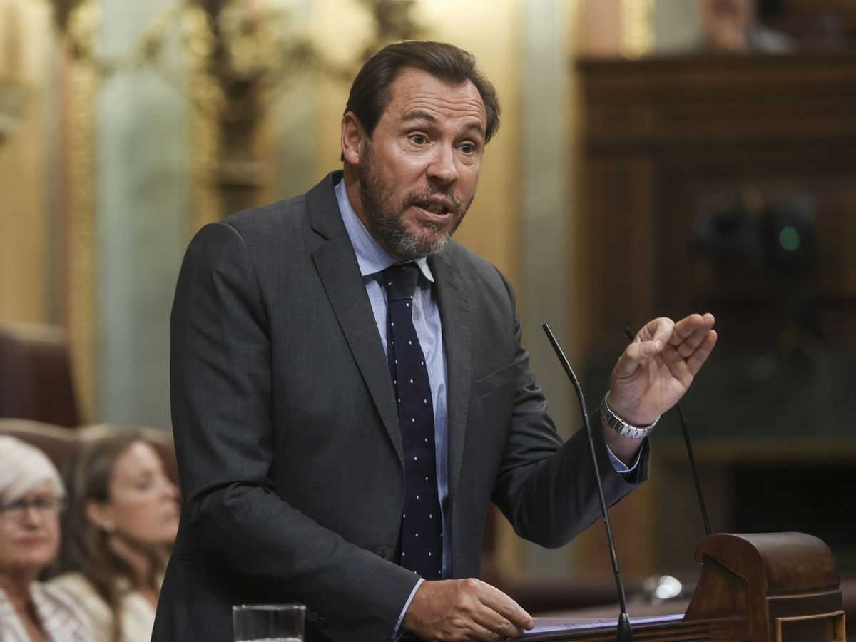
<svg viewBox="0 0 856 642">
<path fill-rule="evenodd" d="M 845 642 L 838 572 L 820 539 L 801 532 L 719 533 L 704 539 L 696 558 L 703 567 L 687 613 L 634 622 L 634 640 Z M 552 632 L 525 637 L 615 640 L 615 621 L 563 625 L 556 618 L 555 624 Z"/>
</svg>

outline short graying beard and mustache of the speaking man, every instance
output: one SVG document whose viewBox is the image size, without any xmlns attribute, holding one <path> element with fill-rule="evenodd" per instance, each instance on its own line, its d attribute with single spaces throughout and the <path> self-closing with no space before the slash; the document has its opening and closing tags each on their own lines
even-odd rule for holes
<svg viewBox="0 0 856 642">
<path fill-rule="evenodd" d="M 366 146 L 366 152 L 360 158 L 357 176 L 360 180 L 363 211 L 371 227 L 370 231 L 393 258 L 401 261 L 431 256 L 442 250 L 455 234 L 455 229 L 458 229 L 469 207 L 469 204 L 463 205 L 460 200 L 455 199 L 452 193 L 429 183 L 428 187 L 421 192 L 408 193 L 401 203 L 401 209 L 396 211 L 395 204 L 392 202 L 393 188 L 383 181 L 380 172 L 377 171 L 371 144 Z M 452 204 L 449 216 L 455 217 L 455 224 L 440 236 L 419 235 L 418 231 L 407 226 L 404 212 L 409 207 L 438 194 Z M 417 224 L 434 234 L 441 230 L 434 223 L 418 222 Z"/>
</svg>

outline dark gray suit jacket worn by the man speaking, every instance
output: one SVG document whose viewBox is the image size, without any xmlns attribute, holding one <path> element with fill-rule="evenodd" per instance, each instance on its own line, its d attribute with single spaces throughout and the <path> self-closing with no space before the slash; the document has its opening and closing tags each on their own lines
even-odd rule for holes
<svg viewBox="0 0 856 642">
<path fill-rule="evenodd" d="M 288 602 L 336 642 L 383 642 L 417 580 L 390 562 L 401 434 L 340 176 L 211 224 L 187 249 L 171 339 L 184 505 L 156 642 L 230 642 L 233 604 Z M 429 260 L 448 364 L 452 572 L 473 577 L 491 500 L 520 536 L 561 546 L 597 519 L 594 473 L 584 433 L 562 444 L 546 413 L 508 282 L 454 241 Z M 612 503 L 633 484 L 596 433 Z"/>
</svg>

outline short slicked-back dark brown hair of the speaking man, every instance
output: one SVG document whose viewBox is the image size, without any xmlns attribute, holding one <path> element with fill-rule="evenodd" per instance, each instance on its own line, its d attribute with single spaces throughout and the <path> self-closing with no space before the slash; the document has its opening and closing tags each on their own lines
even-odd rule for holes
<svg viewBox="0 0 856 642">
<path fill-rule="evenodd" d="M 473 54 L 448 43 L 404 40 L 383 47 L 360 68 L 345 112 L 353 111 L 369 136 L 389 104 L 389 86 L 404 68 L 422 69 L 451 85 L 469 80 L 481 94 L 487 114 L 485 141 L 499 128 L 499 98 L 490 80 L 476 67 Z"/>
</svg>

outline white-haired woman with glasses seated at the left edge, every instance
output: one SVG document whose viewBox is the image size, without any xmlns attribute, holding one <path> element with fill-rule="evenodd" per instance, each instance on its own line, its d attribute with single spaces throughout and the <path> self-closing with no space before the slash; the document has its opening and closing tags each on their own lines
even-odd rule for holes
<svg viewBox="0 0 856 642">
<path fill-rule="evenodd" d="M 0 437 L 0 640 L 90 642 L 86 612 L 37 580 L 59 549 L 65 490 L 56 467 L 15 437 Z"/>
</svg>

